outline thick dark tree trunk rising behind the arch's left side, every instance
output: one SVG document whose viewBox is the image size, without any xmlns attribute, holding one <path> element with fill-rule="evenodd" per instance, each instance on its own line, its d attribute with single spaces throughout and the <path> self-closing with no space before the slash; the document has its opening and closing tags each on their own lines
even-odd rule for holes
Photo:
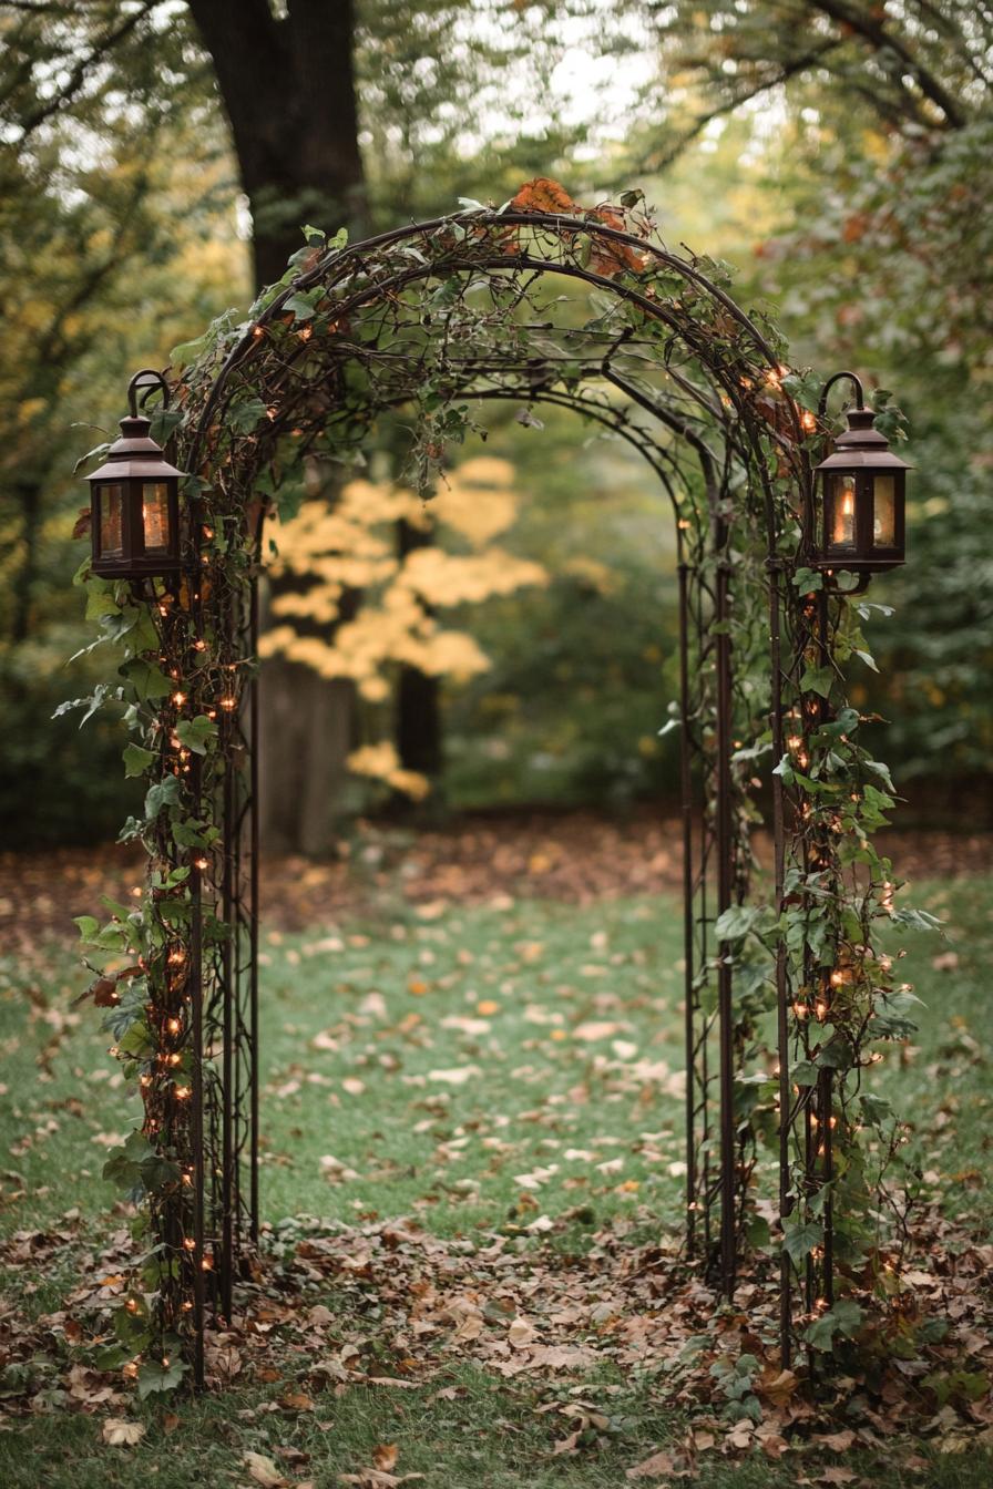
<svg viewBox="0 0 993 1489">
<path fill-rule="evenodd" d="M 301 228 L 365 226 L 351 0 L 188 0 L 210 52 L 253 223 L 259 286 L 281 278 Z M 281 579 L 284 590 L 287 579 Z M 280 658 L 261 679 L 261 832 L 326 853 L 351 747 L 354 688 Z"/>
</svg>

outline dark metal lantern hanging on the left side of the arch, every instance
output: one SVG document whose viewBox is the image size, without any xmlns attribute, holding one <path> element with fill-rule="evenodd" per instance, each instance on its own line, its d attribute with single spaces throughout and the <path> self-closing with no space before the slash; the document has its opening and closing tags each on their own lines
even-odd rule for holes
<svg viewBox="0 0 993 1489">
<path fill-rule="evenodd" d="M 161 445 L 149 435 L 152 423 L 138 414 L 138 390 L 144 399 L 168 387 L 161 372 L 144 368 L 128 384 L 131 414 L 121 420 L 121 439 L 107 460 L 94 471 L 91 488 L 92 572 L 104 579 L 144 579 L 176 573 L 180 567 L 179 482 L 182 471 L 171 466 Z M 144 402 L 143 399 L 143 402 Z"/>
</svg>

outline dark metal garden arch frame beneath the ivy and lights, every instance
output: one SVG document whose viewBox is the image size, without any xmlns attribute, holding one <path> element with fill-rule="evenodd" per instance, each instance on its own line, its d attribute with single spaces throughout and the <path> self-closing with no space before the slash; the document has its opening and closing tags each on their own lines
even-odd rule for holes
<svg viewBox="0 0 993 1489">
<path fill-rule="evenodd" d="M 682 293 L 664 299 L 651 286 L 642 287 L 636 272 L 618 272 L 631 264 L 670 274 L 683 286 Z M 444 331 L 424 335 L 420 313 L 405 319 L 405 295 L 460 274 L 514 289 L 520 323 L 511 328 L 512 335 L 496 345 L 466 345 L 457 338 L 448 344 Z M 533 286 L 545 275 L 579 280 L 624 301 L 640 314 L 643 334 L 630 325 L 619 331 L 607 325 L 601 332 L 587 328 L 581 338 L 564 328 L 561 354 L 555 347 L 549 350 L 546 337 L 537 351 L 531 328 L 521 317 Z M 269 345 L 271 328 L 286 323 L 290 295 L 311 289 L 322 289 L 333 302 L 335 337 L 325 338 L 317 353 L 304 328 L 295 344 L 281 344 L 277 354 Z M 701 304 L 713 308 L 715 326 L 722 329 L 712 329 L 700 316 Z M 374 325 L 380 316 L 389 328 L 383 347 L 375 335 L 360 342 L 351 338 L 351 319 L 360 314 Z M 655 359 L 652 365 L 661 372 L 649 390 L 628 366 L 639 347 L 648 348 L 646 362 Z M 564 363 L 572 369 L 567 380 Z M 347 366 L 368 377 L 362 417 L 356 415 L 354 401 L 348 404 Z M 816 722 L 801 676 L 811 648 L 828 655 L 834 619 L 826 596 L 811 605 L 792 584 L 816 533 L 807 435 L 799 409 L 782 393 L 774 347 L 695 261 L 596 216 L 509 210 L 436 219 L 319 256 L 271 299 L 220 366 L 210 366 L 198 374 L 199 383 L 189 380 L 185 389 L 197 417 L 182 436 L 183 456 L 191 471 L 214 469 L 219 496 L 211 521 L 225 524 L 226 538 L 244 560 L 241 570 L 214 564 L 207 596 L 205 558 L 194 545 L 188 599 L 180 606 L 188 621 L 185 645 L 201 645 L 192 639 L 211 631 L 216 672 L 226 689 L 219 700 L 220 747 L 202 774 L 195 761 L 194 779 L 198 813 L 216 822 L 222 837 L 189 880 L 192 1194 L 182 1197 L 182 1221 L 167 1214 L 159 1225 L 167 1248 L 177 1245 L 177 1234 L 188 1236 L 189 1266 L 180 1297 L 186 1288 L 198 1380 L 204 1373 L 207 1321 L 211 1313 L 231 1316 L 237 1276 L 259 1231 L 255 670 L 264 509 L 253 502 L 253 478 L 266 460 L 277 459 L 280 439 L 293 439 L 299 459 L 328 438 L 329 426 L 344 418 L 345 409 L 350 423 L 342 441 L 354 444 L 356 423 L 368 427 L 377 412 L 415 399 L 426 369 L 444 381 L 451 396 L 576 409 L 633 444 L 673 503 L 680 618 L 686 1251 L 725 1297 L 735 1286 L 753 1170 L 753 1133 L 749 1121 L 735 1114 L 735 1081 L 756 1035 L 735 995 L 740 959 L 728 940 L 718 938 L 715 923 L 744 902 L 750 884 L 747 812 L 753 788 L 749 771 L 737 761 L 735 740 L 755 737 L 756 724 L 764 722 L 770 758 L 780 761 L 788 753 L 789 719 L 807 709 L 804 728 Z M 231 411 L 246 392 L 268 405 L 268 423 L 244 444 L 232 439 L 225 445 L 220 462 L 219 441 L 226 438 Z M 692 482 L 700 493 L 694 499 L 682 490 Z M 194 535 L 201 529 L 201 505 L 198 496 L 191 502 Z M 801 542 L 785 558 L 783 532 L 796 523 Z M 743 587 L 764 594 L 765 613 L 753 634 L 741 621 Z M 767 698 L 756 698 L 755 689 L 746 686 L 749 649 L 767 664 Z M 822 716 L 816 700 L 814 707 Z M 770 774 L 768 785 L 771 902 L 782 910 L 791 870 L 810 871 L 811 855 L 822 855 L 834 873 L 835 850 L 829 835 L 808 829 L 801 792 L 785 788 L 782 774 Z M 168 858 L 170 846 L 164 843 L 161 853 Z M 226 935 L 211 932 L 216 920 L 228 928 Z M 813 966 L 804 971 L 820 975 Z M 813 1182 L 814 1170 L 822 1178 L 831 1175 L 832 1093 L 829 1074 L 817 1087 L 802 1087 L 801 1096 L 791 1085 L 791 1060 L 805 1048 L 807 1035 L 794 1013 L 795 969 L 782 941 L 770 980 L 779 1059 L 780 1217 L 788 1221 L 798 1203 L 796 1145 L 805 1179 Z M 814 1117 L 826 1121 L 826 1145 L 813 1136 Z M 823 1255 L 808 1258 L 801 1276 L 807 1312 L 816 1297 L 831 1298 L 829 1206 Z M 791 1359 L 798 1330 L 794 1282 L 795 1269 L 783 1251 L 783 1364 Z"/>
</svg>

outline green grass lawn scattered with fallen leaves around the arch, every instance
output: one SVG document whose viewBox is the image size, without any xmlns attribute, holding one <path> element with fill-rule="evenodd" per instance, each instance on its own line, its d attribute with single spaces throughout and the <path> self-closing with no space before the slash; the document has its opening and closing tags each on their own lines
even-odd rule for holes
<svg viewBox="0 0 993 1489">
<path fill-rule="evenodd" d="M 907 937 L 905 975 L 926 1004 L 922 1030 L 916 1048 L 877 1075 L 913 1121 L 948 1212 L 987 1236 L 992 889 L 990 880 L 916 886 L 914 904 L 947 920 L 951 940 Z M 439 1237 L 473 1245 L 533 1225 L 527 1245 L 542 1246 L 542 1218 L 569 1212 L 572 1228 L 546 1242 L 558 1248 L 581 1246 L 596 1227 L 646 1208 L 676 1224 L 674 901 L 506 901 L 430 917 L 406 907 L 389 923 L 272 934 L 264 947 L 269 1222 L 299 1214 L 347 1224 L 412 1217 Z M 71 1007 L 80 986 L 66 948 L 39 948 L 31 965 L 0 963 L 3 1231 L 66 1233 L 37 1275 L 18 1267 L 4 1278 L 27 1313 L 58 1309 L 79 1248 L 92 1249 L 121 1224 L 109 1215 L 115 1196 L 100 1169 L 115 1135 L 134 1126 L 135 1105 L 92 1010 Z M 581 1386 L 563 1383 L 555 1401 L 548 1382 L 503 1379 L 457 1352 L 447 1359 L 430 1382 L 408 1389 L 329 1383 L 305 1413 L 280 1404 L 284 1380 L 182 1401 L 179 1422 L 134 1403 L 128 1418 L 146 1435 L 132 1447 L 103 1446 L 95 1415 L 10 1418 L 0 1432 L 0 1485 L 250 1485 L 265 1476 L 256 1464 L 252 1477 L 244 1453 L 255 1452 L 289 1483 L 331 1486 L 339 1474 L 365 1474 L 354 1482 L 375 1485 L 378 1471 L 395 1482 L 423 1474 L 412 1482 L 427 1489 L 606 1489 L 655 1447 L 685 1437 L 658 1382 L 604 1368 Z M 570 1403 L 575 1421 L 593 1403 L 607 1425 L 588 1426 L 576 1452 L 555 1453 Z M 399 1449 L 396 1461 L 389 1452 L 377 1459 L 389 1444 Z M 823 1468 L 796 1453 L 780 1464 L 704 1458 L 695 1482 L 749 1489 L 794 1485 L 804 1473 L 811 1483 L 880 1489 L 993 1482 L 983 1449 L 935 1453 L 922 1444 L 920 1453 L 917 1470 L 871 1455 L 835 1459 L 855 1480 L 820 1479 Z"/>
</svg>

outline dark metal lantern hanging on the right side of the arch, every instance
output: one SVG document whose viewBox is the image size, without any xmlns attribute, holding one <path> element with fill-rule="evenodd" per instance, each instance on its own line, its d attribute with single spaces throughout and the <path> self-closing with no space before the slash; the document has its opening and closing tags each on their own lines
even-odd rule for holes
<svg viewBox="0 0 993 1489">
<path fill-rule="evenodd" d="M 813 566 L 846 569 L 868 584 L 869 575 L 905 561 L 905 484 L 911 466 L 874 427 L 875 412 L 865 406 L 855 372 L 835 372 L 825 383 L 820 417 L 828 390 L 840 378 L 855 384 L 856 406 L 847 411 L 849 427 L 835 439 L 834 451 L 814 469 L 820 476 L 820 512 Z"/>
</svg>

